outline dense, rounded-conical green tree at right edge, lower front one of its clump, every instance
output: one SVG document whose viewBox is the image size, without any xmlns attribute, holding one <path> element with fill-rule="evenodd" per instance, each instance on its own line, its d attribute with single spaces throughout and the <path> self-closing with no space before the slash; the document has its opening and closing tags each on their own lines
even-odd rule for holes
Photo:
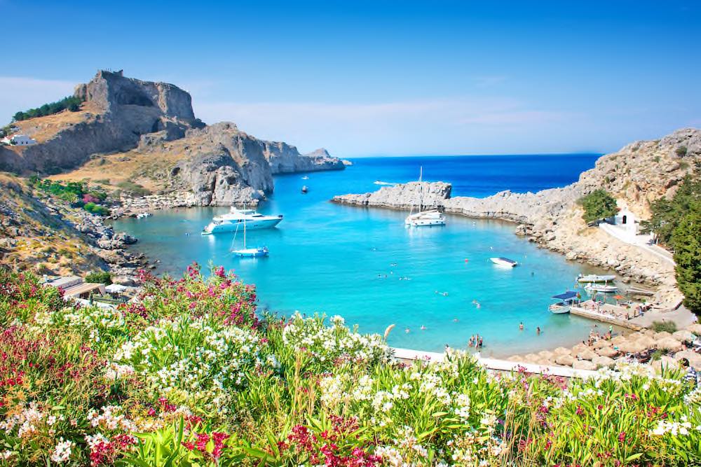
<svg viewBox="0 0 701 467">
<path fill-rule="evenodd" d="M 701 316 L 701 201 L 691 204 L 672 235 L 676 283 L 684 305 Z"/>
</svg>

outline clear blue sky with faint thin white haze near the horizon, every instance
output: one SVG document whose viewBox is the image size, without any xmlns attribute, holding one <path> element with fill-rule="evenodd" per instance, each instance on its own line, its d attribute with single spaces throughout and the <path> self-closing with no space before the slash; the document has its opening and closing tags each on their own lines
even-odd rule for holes
<svg viewBox="0 0 701 467">
<path fill-rule="evenodd" d="M 701 127 L 701 2 L 0 0 L 0 121 L 97 69 L 333 155 L 615 151 Z"/>
</svg>

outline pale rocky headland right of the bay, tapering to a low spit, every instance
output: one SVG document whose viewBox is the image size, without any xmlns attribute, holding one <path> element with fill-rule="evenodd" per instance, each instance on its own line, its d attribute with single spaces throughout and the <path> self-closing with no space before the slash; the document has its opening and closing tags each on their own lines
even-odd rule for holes
<svg viewBox="0 0 701 467">
<path fill-rule="evenodd" d="M 603 188 L 620 204 L 649 216 L 649 203 L 671 197 L 683 177 L 701 160 L 701 131 L 677 130 L 660 140 L 637 141 L 601 156 L 576 183 L 538 193 L 503 191 L 485 198 L 451 197 L 444 182 L 421 182 L 423 205 L 472 218 L 496 218 L 517 223 L 517 235 L 579 260 L 615 270 L 637 282 L 658 287 L 658 299 L 668 307 L 679 304 L 674 266 L 653 253 L 626 244 L 582 220 L 578 200 Z M 374 193 L 341 195 L 333 202 L 362 207 L 409 209 L 418 205 L 419 182 L 386 186 Z"/>
</svg>

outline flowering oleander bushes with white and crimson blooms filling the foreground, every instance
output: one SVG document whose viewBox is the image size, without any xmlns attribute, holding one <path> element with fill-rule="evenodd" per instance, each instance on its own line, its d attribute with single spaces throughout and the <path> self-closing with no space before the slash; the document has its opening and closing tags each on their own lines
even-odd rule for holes
<svg viewBox="0 0 701 467">
<path fill-rule="evenodd" d="M 583 380 L 394 360 L 334 316 L 257 313 L 222 267 L 143 273 L 79 307 L 0 270 L 0 462 L 10 466 L 687 466 L 701 391 L 643 365 Z"/>
</svg>

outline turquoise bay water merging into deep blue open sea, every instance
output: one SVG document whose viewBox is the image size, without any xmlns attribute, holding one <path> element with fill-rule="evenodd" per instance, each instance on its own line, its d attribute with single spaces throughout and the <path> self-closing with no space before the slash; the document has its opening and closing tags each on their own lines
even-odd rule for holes
<svg viewBox="0 0 701 467">
<path fill-rule="evenodd" d="M 551 295 L 573 287 L 578 273 L 601 271 L 538 249 L 514 235 L 512 223 L 449 215 L 445 227 L 407 229 L 406 212 L 329 200 L 377 190 L 378 180 L 416 180 L 421 166 L 424 180 L 452 183 L 454 196 L 536 191 L 576 181 L 598 157 L 359 158 L 342 172 L 306 174 L 308 180 L 301 179 L 305 174 L 276 176 L 275 193 L 259 211 L 285 218 L 278 228 L 248 232 L 248 246 L 268 246 L 268 258 L 231 256 L 233 234 L 200 236 L 212 216 L 226 208 L 160 211 L 121 219 L 115 228 L 136 235 L 135 248 L 161 260 L 158 272 L 180 274 L 193 260 L 235 270 L 256 284 L 262 308 L 340 314 L 362 332 L 383 333 L 395 324 L 389 337 L 395 347 L 465 347 L 470 335 L 479 333 L 483 355 L 505 356 L 585 339 L 592 321 L 554 316 L 547 306 Z M 300 192 L 303 185 L 309 187 L 306 195 Z M 239 235 L 237 247 L 240 240 Z M 520 265 L 504 270 L 492 265 L 491 256 Z"/>
</svg>

